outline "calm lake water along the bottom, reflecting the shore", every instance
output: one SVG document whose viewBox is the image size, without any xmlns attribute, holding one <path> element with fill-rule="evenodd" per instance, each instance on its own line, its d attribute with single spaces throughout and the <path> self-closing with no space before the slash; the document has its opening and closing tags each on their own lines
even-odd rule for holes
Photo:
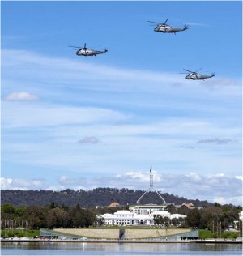
<svg viewBox="0 0 243 256">
<path fill-rule="evenodd" d="M 2 242 L 2 255 L 241 255 L 241 244 Z"/>
</svg>

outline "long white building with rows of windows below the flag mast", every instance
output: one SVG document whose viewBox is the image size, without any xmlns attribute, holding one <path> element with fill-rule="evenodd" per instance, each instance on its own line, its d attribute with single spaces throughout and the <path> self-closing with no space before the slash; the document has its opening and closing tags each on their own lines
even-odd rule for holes
<svg viewBox="0 0 243 256">
<path fill-rule="evenodd" d="M 159 205 L 143 205 L 130 207 L 129 210 L 116 211 L 114 214 L 105 213 L 100 215 L 104 218 L 105 225 L 154 225 L 154 215 L 160 215 L 162 217 L 168 217 L 170 220 L 185 218 L 185 215 L 173 214 L 164 210 L 165 206 Z"/>
</svg>

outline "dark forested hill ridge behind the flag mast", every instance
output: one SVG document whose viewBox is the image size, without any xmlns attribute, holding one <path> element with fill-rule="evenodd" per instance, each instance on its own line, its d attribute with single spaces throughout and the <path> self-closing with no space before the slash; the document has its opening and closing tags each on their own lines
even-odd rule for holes
<svg viewBox="0 0 243 256">
<path fill-rule="evenodd" d="M 96 188 L 94 190 L 1 190 L 1 203 L 11 203 L 14 207 L 39 205 L 45 206 L 56 203 L 58 206 L 65 205 L 73 207 L 79 204 L 80 207 L 109 206 L 117 202 L 121 205 L 135 204 L 138 198 L 144 193 L 143 190 L 129 190 L 116 188 Z M 187 199 L 177 195 L 161 194 L 167 203 L 181 205 L 182 203 L 193 203 L 194 206 L 209 206 L 207 200 Z M 161 199 L 156 192 L 149 192 L 140 202 L 161 204 Z"/>
</svg>

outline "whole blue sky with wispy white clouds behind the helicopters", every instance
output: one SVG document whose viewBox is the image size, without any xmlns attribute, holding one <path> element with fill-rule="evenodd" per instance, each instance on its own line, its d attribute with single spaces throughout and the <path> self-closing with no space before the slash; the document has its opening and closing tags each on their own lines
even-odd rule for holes
<svg viewBox="0 0 243 256">
<path fill-rule="evenodd" d="M 2 189 L 146 189 L 152 165 L 162 192 L 241 202 L 241 2 L 1 7 Z"/>
</svg>

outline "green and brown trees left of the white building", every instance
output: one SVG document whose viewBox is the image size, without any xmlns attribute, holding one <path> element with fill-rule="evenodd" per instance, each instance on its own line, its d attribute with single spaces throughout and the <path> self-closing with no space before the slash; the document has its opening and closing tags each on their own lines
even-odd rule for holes
<svg viewBox="0 0 243 256">
<path fill-rule="evenodd" d="M 96 226 L 96 215 L 113 213 L 115 208 L 82 208 L 51 203 L 45 207 L 37 205 L 14 207 L 10 203 L 1 206 L 1 228 L 39 229 L 39 228 L 88 228 Z"/>
</svg>

